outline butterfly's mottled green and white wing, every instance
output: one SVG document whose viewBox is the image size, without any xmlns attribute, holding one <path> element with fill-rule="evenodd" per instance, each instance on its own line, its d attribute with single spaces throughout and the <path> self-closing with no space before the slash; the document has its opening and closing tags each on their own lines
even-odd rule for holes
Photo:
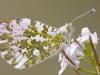
<svg viewBox="0 0 100 75">
<path fill-rule="evenodd" d="M 23 18 L 0 23 L 0 56 L 23 69 L 57 54 L 63 40 L 57 28 Z"/>
</svg>

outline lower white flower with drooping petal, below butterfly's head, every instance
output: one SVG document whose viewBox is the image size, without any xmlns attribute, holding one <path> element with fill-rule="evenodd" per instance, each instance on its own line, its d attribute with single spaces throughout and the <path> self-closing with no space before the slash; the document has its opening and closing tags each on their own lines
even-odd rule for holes
<svg viewBox="0 0 100 75">
<path fill-rule="evenodd" d="M 64 51 L 66 52 L 66 55 L 69 56 L 69 58 L 73 61 L 76 67 L 80 64 L 77 55 L 80 56 L 84 55 L 78 47 L 79 46 L 76 43 L 72 43 L 69 46 L 64 47 Z M 59 54 L 59 62 L 61 62 L 60 64 L 61 69 L 59 70 L 58 75 L 61 75 L 68 65 L 70 64 L 72 65 L 72 63 L 69 60 L 66 60 L 65 56 L 62 53 Z"/>
</svg>

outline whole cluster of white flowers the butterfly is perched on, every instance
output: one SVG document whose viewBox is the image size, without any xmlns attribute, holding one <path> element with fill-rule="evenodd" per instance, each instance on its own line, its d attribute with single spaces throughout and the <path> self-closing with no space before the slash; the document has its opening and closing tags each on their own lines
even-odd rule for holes
<svg viewBox="0 0 100 75">
<path fill-rule="evenodd" d="M 72 62 L 68 60 L 68 58 L 66 58 L 66 56 L 63 53 L 60 53 L 59 62 L 61 65 L 61 69 L 58 72 L 58 75 L 61 75 L 68 65 L 71 65 L 74 69 L 79 69 L 80 60 L 84 58 L 84 56 L 86 55 L 85 51 L 90 50 L 90 48 L 87 47 L 86 45 L 86 43 L 88 43 L 88 45 L 91 45 L 90 37 L 95 46 L 98 43 L 97 33 L 94 32 L 92 34 L 90 30 L 87 27 L 85 27 L 82 28 L 81 34 L 78 38 L 70 39 L 71 41 L 70 45 L 63 46 L 64 47 L 63 50 L 65 51 L 66 55 Z"/>
</svg>

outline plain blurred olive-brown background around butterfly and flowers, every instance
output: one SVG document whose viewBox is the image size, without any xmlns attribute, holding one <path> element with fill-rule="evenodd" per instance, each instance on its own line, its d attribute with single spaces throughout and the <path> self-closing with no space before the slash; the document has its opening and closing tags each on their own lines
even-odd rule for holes
<svg viewBox="0 0 100 75">
<path fill-rule="evenodd" d="M 39 20 L 60 27 L 91 8 L 95 8 L 97 12 L 76 21 L 74 23 L 76 32 L 81 27 L 88 26 L 92 32 L 96 31 L 100 37 L 100 0 L 0 0 L 0 20 L 30 18 L 32 21 Z M 97 50 L 99 48 L 98 46 Z M 0 75 L 57 75 L 59 69 L 58 56 L 21 71 L 12 68 L 0 59 Z M 76 74 L 68 67 L 62 75 Z"/>
</svg>

